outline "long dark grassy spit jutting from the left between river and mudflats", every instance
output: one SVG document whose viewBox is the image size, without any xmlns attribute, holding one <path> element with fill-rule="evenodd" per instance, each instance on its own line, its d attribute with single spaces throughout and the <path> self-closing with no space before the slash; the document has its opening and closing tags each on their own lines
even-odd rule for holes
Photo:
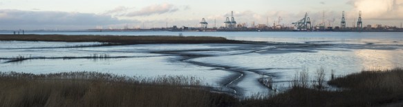
<svg viewBox="0 0 403 107">
<path fill-rule="evenodd" d="M 100 35 L 0 35 L 1 41 L 68 41 L 105 43 L 238 43 L 224 37 L 100 36 Z"/>
</svg>

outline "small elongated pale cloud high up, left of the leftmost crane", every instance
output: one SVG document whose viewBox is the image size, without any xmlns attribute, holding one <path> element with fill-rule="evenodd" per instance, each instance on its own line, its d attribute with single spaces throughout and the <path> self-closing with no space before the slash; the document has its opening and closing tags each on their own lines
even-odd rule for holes
<svg viewBox="0 0 403 107">
<path fill-rule="evenodd" d="M 140 10 L 137 10 L 137 11 L 128 12 L 124 16 L 126 16 L 126 17 L 149 16 L 152 14 L 164 14 L 164 13 L 169 13 L 169 12 L 176 12 L 178 10 L 179 9 L 172 4 L 162 3 L 162 4 L 147 6 Z"/>
</svg>

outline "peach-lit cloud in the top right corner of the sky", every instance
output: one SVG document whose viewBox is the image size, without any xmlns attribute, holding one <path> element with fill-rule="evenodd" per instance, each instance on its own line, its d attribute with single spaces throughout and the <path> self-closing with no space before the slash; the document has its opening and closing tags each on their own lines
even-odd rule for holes
<svg viewBox="0 0 403 107">
<path fill-rule="evenodd" d="M 354 6 L 354 15 L 362 11 L 364 19 L 400 20 L 403 19 L 403 0 L 350 0 L 348 4 Z"/>
</svg>

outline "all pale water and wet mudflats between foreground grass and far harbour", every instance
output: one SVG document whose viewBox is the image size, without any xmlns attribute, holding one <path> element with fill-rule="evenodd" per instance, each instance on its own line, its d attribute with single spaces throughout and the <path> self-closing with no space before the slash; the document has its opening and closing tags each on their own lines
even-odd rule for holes
<svg viewBox="0 0 403 107">
<path fill-rule="evenodd" d="M 9 32 L 0 32 L 9 33 Z M 12 32 L 11 32 L 12 33 Z M 296 72 L 317 68 L 348 75 L 371 68 L 403 65 L 402 32 L 26 32 L 62 35 L 178 35 L 216 36 L 256 44 L 147 44 L 66 48 L 95 42 L 0 41 L 0 71 L 48 72 L 97 71 L 118 75 L 184 75 L 240 96 L 274 93 L 257 79 L 272 77 L 274 86 L 286 90 Z M 109 55 L 109 59 L 62 59 Z M 8 62 L 17 56 L 46 57 Z M 53 57 L 54 59 L 49 59 Z"/>
</svg>

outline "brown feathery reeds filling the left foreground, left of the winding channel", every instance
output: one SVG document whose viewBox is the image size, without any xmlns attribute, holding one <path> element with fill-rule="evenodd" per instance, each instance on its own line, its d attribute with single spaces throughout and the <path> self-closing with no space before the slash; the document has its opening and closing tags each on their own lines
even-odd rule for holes
<svg viewBox="0 0 403 107">
<path fill-rule="evenodd" d="M 0 106 L 232 106 L 200 79 L 126 77 L 98 72 L 0 73 Z"/>
</svg>

